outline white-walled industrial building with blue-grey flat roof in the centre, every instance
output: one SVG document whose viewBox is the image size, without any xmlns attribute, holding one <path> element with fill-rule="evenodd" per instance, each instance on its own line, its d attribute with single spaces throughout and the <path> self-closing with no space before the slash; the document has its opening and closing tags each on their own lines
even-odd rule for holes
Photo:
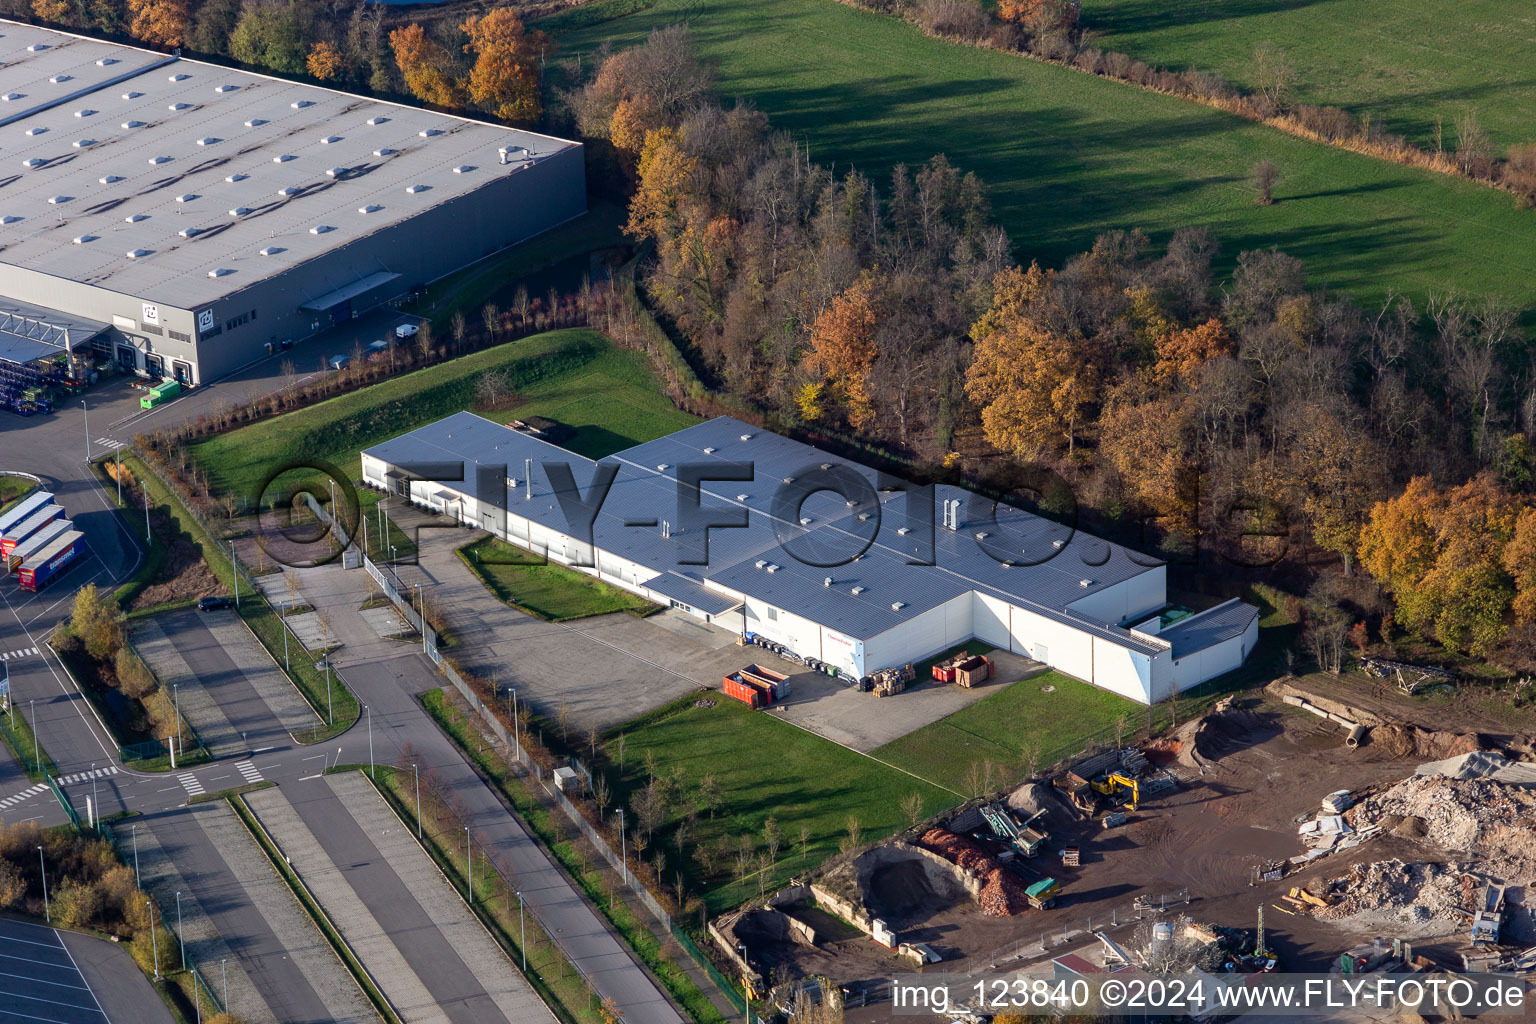
<svg viewBox="0 0 1536 1024">
<path fill-rule="evenodd" d="M 751 479 L 679 484 L 697 465 Z M 614 476 L 588 543 L 576 524 L 602 471 Z M 783 502 L 839 474 L 863 485 Z M 1174 620 L 1154 559 L 952 487 L 934 488 L 942 511 L 914 513 L 876 471 L 731 418 L 593 462 L 458 413 L 369 448 L 362 476 L 852 676 L 977 637 L 1149 703 L 1238 668 L 1258 640 L 1258 609 L 1238 600 Z M 743 525 L 687 527 L 690 502 Z"/>
</svg>

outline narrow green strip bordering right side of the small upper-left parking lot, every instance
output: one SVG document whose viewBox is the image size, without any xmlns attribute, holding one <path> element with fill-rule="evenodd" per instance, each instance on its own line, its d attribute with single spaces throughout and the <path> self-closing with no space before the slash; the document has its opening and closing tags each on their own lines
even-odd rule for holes
<svg viewBox="0 0 1536 1024">
<path fill-rule="evenodd" d="M 233 594 L 235 573 L 229 560 L 229 545 L 215 542 L 203 528 L 203 524 L 181 504 L 181 499 L 143 461 L 138 457 L 124 457 L 123 464 L 134 473 L 134 479 L 149 491 L 149 500 L 161 505 L 177 527 L 192 537 L 209 570 L 227 588 L 227 593 Z M 260 591 L 252 591 L 249 583 L 240 585 L 238 614 L 267 652 L 272 654 L 273 663 L 283 669 L 283 622 L 272 605 L 267 603 L 267 599 Z M 335 706 L 333 725 L 318 726 L 303 737 L 295 737 L 295 740 L 301 743 L 323 743 L 341 735 L 352 728 L 352 723 L 358 720 L 358 714 L 361 712 L 356 695 L 335 672 L 332 672 L 330 694 L 327 695 L 326 674 L 315 669 L 309 652 L 304 651 L 298 640 L 289 637 L 287 643 L 289 665 L 286 671 L 289 680 L 304 694 L 304 699 L 309 700 L 310 706 L 321 717 L 321 722 L 329 720 L 329 705 L 333 703 Z"/>
</svg>

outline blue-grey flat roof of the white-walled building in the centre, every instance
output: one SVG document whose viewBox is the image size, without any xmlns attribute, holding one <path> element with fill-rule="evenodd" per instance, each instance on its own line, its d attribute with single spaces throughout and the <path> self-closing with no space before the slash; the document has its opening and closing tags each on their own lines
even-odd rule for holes
<svg viewBox="0 0 1536 1024">
<path fill-rule="evenodd" d="M 539 464 L 554 461 L 568 465 L 579 494 L 588 493 L 598 465 L 473 413 L 456 413 L 375 445 L 367 453 L 396 467 L 462 459 L 467 481 L 475 481 L 476 464 L 505 467 L 505 474 L 519 481 L 519 487 L 508 493 L 508 510 L 562 533 L 570 531 L 562 493 L 554 490 Z M 535 462 L 531 497 L 524 484 L 524 459 Z M 713 528 L 705 539 L 700 530 L 680 528 L 677 467 L 685 462 L 710 464 L 711 459 L 719 467 L 733 461 L 751 462 L 754 477 L 750 482 L 707 481 L 700 485 L 699 500 L 714 514 L 739 516 L 743 510 L 746 514 L 745 528 Z M 914 565 L 915 534 L 920 531 L 900 533 L 905 527 L 905 499 L 900 494 L 879 494 L 879 514 L 874 505 L 849 508 L 829 491 L 816 493 L 800 508 L 808 524 L 776 514 L 773 494 L 786 476 L 819 470 L 822 464 L 843 465 L 871 484 L 876 474 L 737 419 L 696 424 L 621 451 L 605 462 L 614 464 L 617 474 L 594 520 L 594 542 L 601 550 L 659 574 L 676 573 L 700 585 L 708 580 L 859 639 L 874 637 L 943 602 L 980 591 L 1121 646 L 1147 654 L 1166 649 L 1163 640 L 1143 640 L 1118 623 L 1071 609 L 1084 596 L 1146 573 L 1158 562 L 1132 557 L 1118 545 L 1074 534 L 1066 527 L 1009 507 L 1001 507 L 997 522 L 992 522 L 991 502 L 968 491 L 937 490 L 940 500 L 960 497 L 963 525 L 958 531 L 935 525 L 935 565 Z M 473 482 L 462 487 L 470 493 L 475 490 Z M 579 494 L 565 491 L 564 497 L 578 500 Z M 869 519 L 860 522 L 860 514 Z M 977 540 L 977 533 L 989 536 Z M 872 543 L 865 548 L 871 536 Z M 1061 540 L 1060 548 L 1055 540 Z M 1006 551 L 1001 545 L 1008 545 Z M 865 548 L 863 554 L 846 562 L 860 548 Z M 994 557 L 1014 550 L 1021 560 L 1028 550 L 1041 562 L 1005 567 Z M 694 563 L 700 556 L 705 563 Z M 822 568 L 808 560 L 846 563 Z M 773 571 L 770 567 L 774 567 Z M 860 588 L 857 594 L 852 593 L 856 586 Z"/>
</svg>

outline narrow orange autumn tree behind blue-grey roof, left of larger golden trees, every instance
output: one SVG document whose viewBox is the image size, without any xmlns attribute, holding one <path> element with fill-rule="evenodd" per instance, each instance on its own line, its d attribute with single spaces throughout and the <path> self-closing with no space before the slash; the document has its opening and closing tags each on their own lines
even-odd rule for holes
<svg viewBox="0 0 1536 1024">
<path fill-rule="evenodd" d="M 865 427 L 874 418 L 874 401 L 869 396 L 869 372 L 880 355 L 876 345 L 876 322 L 879 315 L 880 284 L 876 275 L 865 272 L 811 324 L 811 347 L 800 361 L 813 384 L 814 407 L 800 401 L 802 413 L 813 408 L 825 415 L 823 398 L 833 399 L 854 428 Z M 808 393 L 802 390 L 802 396 Z"/>
</svg>

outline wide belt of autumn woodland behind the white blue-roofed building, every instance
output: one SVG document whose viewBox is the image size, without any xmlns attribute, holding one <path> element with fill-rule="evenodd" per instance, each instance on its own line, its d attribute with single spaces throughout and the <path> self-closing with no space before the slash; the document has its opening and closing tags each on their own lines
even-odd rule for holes
<svg viewBox="0 0 1536 1024">
<path fill-rule="evenodd" d="M 1333 567 L 1353 583 L 1326 603 L 1353 588 L 1352 614 L 1396 603 L 1396 623 L 1453 648 L 1488 654 L 1536 617 L 1519 310 L 1448 293 L 1362 307 L 1278 249 L 1218 275 L 1206 227 L 1017 266 L 974 175 L 942 155 L 879 180 L 813 163 L 714 98 L 680 26 L 607 55 L 562 107 L 633 177 L 651 307 L 700 376 L 776 425 L 971 481 L 1044 467 L 1106 528 L 1276 562 L 1298 590 Z M 1459 508 L 1475 499 L 1481 516 Z M 1413 559 L 1381 540 L 1409 543 L 1393 517 L 1418 524 Z"/>
</svg>

